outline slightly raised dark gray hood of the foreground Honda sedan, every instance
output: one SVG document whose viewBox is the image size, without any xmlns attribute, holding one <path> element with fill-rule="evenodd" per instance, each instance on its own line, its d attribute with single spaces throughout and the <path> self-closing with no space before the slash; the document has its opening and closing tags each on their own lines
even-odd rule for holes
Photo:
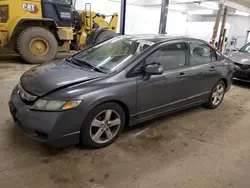
<svg viewBox="0 0 250 188">
<path fill-rule="evenodd" d="M 65 60 L 34 67 L 23 74 L 21 86 L 30 94 L 43 96 L 55 89 L 81 83 L 106 74 L 81 69 Z"/>
</svg>

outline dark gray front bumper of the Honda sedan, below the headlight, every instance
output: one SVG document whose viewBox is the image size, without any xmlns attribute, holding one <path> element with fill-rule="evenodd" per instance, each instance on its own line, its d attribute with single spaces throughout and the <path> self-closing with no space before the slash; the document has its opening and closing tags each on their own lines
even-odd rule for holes
<svg viewBox="0 0 250 188">
<path fill-rule="evenodd" d="M 83 116 L 77 108 L 61 112 L 31 110 L 31 105 L 21 100 L 17 87 L 11 94 L 9 108 L 16 125 L 26 136 L 56 148 L 79 143 Z"/>
</svg>

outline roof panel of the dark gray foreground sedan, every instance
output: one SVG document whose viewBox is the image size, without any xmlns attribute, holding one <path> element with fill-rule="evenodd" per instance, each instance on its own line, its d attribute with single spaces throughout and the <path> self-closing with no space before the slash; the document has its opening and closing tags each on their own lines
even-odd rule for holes
<svg viewBox="0 0 250 188">
<path fill-rule="evenodd" d="M 178 39 L 190 39 L 190 40 L 200 40 L 188 36 L 180 36 L 180 35 L 167 35 L 167 34 L 142 34 L 142 35 L 124 35 L 122 37 L 127 37 L 131 39 L 138 40 L 147 40 L 154 43 L 162 43 L 170 40 L 178 40 Z"/>
</svg>

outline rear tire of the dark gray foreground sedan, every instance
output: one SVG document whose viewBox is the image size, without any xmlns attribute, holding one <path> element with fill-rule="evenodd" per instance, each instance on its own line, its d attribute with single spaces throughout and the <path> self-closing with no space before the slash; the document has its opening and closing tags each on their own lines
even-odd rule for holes
<svg viewBox="0 0 250 188">
<path fill-rule="evenodd" d="M 223 92 L 219 92 L 219 93 L 221 93 L 220 98 L 218 98 L 219 100 L 216 100 L 217 102 L 215 103 L 215 102 L 214 102 L 214 101 L 215 101 L 214 93 L 216 92 L 216 89 L 218 89 L 219 86 L 223 87 Z M 223 101 L 223 99 L 224 99 L 224 96 L 225 96 L 225 93 L 226 93 L 226 86 L 225 86 L 225 83 L 224 83 L 222 80 L 220 80 L 220 81 L 218 81 L 218 82 L 214 85 L 214 87 L 213 87 L 213 89 L 212 89 L 212 92 L 211 92 L 211 94 L 209 95 L 208 101 L 204 104 L 205 107 L 207 107 L 207 108 L 209 108 L 209 109 L 215 109 L 215 108 L 217 108 L 217 107 L 222 103 L 222 101 Z M 218 94 L 218 93 L 217 93 L 217 94 Z"/>
</svg>

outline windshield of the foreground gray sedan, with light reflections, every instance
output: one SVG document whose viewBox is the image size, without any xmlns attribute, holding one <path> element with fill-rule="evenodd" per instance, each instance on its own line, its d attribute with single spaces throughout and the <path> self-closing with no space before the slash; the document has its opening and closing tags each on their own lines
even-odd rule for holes
<svg viewBox="0 0 250 188">
<path fill-rule="evenodd" d="M 80 52 L 72 59 L 82 63 L 88 62 L 105 72 L 114 72 L 153 44 L 147 40 L 116 37 Z"/>
</svg>

